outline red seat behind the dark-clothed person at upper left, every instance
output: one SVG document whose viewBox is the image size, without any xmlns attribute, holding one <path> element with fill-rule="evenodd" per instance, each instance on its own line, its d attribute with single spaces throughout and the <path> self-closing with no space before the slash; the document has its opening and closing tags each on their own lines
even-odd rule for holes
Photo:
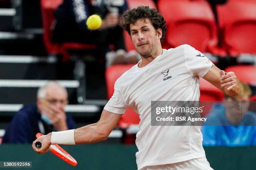
<svg viewBox="0 0 256 170">
<path fill-rule="evenodd" d="M 96 49 L 92 44 L 79 44 L 67 42 L 62 45 L 51 42 L 51 25 L 54 21 L 54 10 L 62 3 L 62 0 L 41 0 L 41 12 L 44 28 L 44 44 L 48 53 L 62 54 L 63 60 L 69 59 L 68 50 Z"/>
</svg>

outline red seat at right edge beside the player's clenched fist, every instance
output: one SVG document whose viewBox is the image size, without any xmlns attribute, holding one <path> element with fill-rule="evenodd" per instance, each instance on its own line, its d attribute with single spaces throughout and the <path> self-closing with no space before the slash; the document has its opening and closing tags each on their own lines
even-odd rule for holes
<svg viewBox="0 0 256 170">
<path fill-rule="evenodd" d="M 256 85 L 256 67 L 253 65 L 236 65 L 225 69 L 225 72 L 233 71 L 242 82 L 250 85 Z"/>
</svg>

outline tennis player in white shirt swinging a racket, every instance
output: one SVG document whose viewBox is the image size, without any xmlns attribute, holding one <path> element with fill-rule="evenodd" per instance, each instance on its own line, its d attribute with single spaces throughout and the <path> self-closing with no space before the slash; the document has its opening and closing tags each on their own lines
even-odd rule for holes
<svg viewBox="0 0 256 170">
<path fill-rule="evenodd" d="M 115 82 L 115 92 L 100 120 L 75 130 L 40 137 L 46 153 L 51 144 L 75 145 L 106 140 L 127 107 L 140 116 L 136 135 L 138 170 L 212 170 L 202 147 L 200 126 L 151 126 L 151 101 L 198 101 L 199 77 L 229 96 L 239 93 L 234 72 L 224 72 L 189 45 L 161 47 L 166 26 L 155 9 L 127 10 L 120 25 L 131 35 L 141 60 Z"/>
</svg>

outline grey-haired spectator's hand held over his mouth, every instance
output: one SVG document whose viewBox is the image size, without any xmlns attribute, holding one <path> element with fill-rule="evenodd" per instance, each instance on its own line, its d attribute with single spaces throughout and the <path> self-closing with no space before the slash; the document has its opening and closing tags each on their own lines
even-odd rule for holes
<svg viewBox="0 0 256 170">
<path fill-rule="evenodd" d="M 43 109 L 44 115 L 51 120 L 52 125 L 57 131 L 68 130 L 66 122 L 66 114 L 63 109 L 49 105 Z"/>
</svg>

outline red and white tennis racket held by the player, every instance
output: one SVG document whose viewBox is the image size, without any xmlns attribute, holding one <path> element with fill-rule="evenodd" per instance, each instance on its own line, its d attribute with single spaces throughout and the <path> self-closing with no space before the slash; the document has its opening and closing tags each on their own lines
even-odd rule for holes
<svg viewBox="0 0 256 170">
<path fill-rule="evenodd" d="M 39 138 L 42 135 L 43 134 L 41 134 L 41 133 L 37 133 L 36 138 Z M 40 149 L 42 147 L 41 141 L 36 141 L 35 147 L 37 149 Z M 72 156 L 70 156 L 69 153 L 67 153 L 64 149 L 62 149 L 59 145 L 57 145 L 57 144 L 56 145 L 50 145 L 50 151 L 51 151 L 51 153 L 53 153 L 57 157 L 64 160 L 66 163 L 69 163 L 70 165 L 73 165 L 73 166 L 77 165 L 77 161 Z"/>
</svg>

